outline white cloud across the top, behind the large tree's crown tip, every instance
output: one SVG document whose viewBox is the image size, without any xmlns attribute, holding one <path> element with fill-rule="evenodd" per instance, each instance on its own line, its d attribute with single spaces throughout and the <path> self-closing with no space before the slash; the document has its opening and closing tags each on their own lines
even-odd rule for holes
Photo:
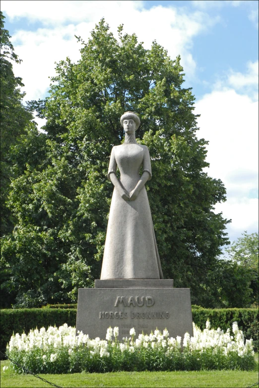
<svg viewBox="0 0 259 388">
<path fill-rule="evenodd" d="M 14 65 L 14 72 L 23 78 L 26 100 L 45 97 L 48 77 L 55 74 L 54 62 L 66 56 L 72 61 L 79 59 L 80 45 L 74 35 L 87 41 L 103 16 L 115 36 L 118 25 L 123 23 L 124 31 L 134 32 L 145 48 L 150 48 L 156 40 L 173 59 L 180 54 L 187 80 L 195 76 L 193 38 L 218 22 L 217 17 L 208 17 L 200 11 L 188 14 L 186 10 L 161 5 L 147 10 L 141 1 L 3 0 L 1 9 L 13 19 L 23 16 L 45 25 L 37 31 L 19 30 L 12 36 L 15 52 L 23 60 L 19 66 Z"/>
</svg>

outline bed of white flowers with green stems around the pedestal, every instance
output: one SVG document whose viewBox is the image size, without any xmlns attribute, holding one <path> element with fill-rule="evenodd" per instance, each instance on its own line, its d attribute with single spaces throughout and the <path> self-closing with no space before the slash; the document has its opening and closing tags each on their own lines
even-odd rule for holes
<svg viewBox="0 0 259 388">
<path fill-rule="evenodd" d="M 150 335 L 135 338 L 130 329 L 129 338 L 118 341 L 119 329 L 109 328 L 106 340 L 90 339 L 88 335 L 75 335 L 75 328 L 66 324 L 31 330 L 28 335 L 12 335 L 7 354 L 14 361 L 34 373 L 77 373 L 111 371 L 191 371 L 240 369 L 255 367 L 252 340 L 244 342 L 237 323 L 230 330 L 201 331 L 194 325 L 194 336 L 186 333 L 183 338 L 169 336 L 155 330 Z M 181 346 L 183 345 L 183 346 Z M 17 373 L 22 368 L 12 365 Z"/>
</svg>

